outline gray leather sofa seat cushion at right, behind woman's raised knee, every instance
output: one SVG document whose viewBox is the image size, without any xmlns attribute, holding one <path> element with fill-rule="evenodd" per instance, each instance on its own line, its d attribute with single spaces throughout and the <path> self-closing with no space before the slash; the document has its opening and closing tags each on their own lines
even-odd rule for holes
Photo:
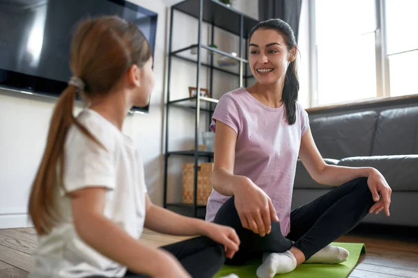
<svg viewBox="0 0 418 278">
<path fill-rule="evenodd" d="M 369 156 L 341 159 L 339 166 L 374 167 L 393 191 L 418 191 L 418 155 Z"/>
</svg>

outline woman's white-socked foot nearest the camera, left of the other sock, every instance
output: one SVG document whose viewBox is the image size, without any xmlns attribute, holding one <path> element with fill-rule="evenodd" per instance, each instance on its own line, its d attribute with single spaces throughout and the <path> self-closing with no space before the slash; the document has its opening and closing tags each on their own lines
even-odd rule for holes
<svg viewBox="0 0 418 278">
<path fill-rule="evenodd" d="M 274 275 L 291 272 L 296 268 L 296 258 L 292 252 L 265 253 L 263 263 L 257 268 L 258 278 L 272 278 Z"/>
</svg>

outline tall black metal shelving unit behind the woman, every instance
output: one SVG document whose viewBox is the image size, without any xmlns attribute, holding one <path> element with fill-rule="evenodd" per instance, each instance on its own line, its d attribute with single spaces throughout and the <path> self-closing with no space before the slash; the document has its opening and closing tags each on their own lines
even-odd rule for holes
<svg viewBox="0 0 418 278">
<path fill-rule="evenodd" d="M 200 5 L 202 3 L 202 5 Z M 175 12 L 176 11 L 176 12 Z M 201 28 L 197 28 L 198 32 L 203 31 L 203 26 L 201 23 L 206 22 L 212 26 L 211 29 L 211 35 L 210 38 L 208 38 L 208 41 L 204 40 L 206 44 L 203 43 L 203 34 L 199 33 L 198 40 L 196 44 L 191 44 L 187 47 L 182 47 L 180 49 L 172 49 L 173 47 L 173 18 L 175 13 L 183 13 L 185 15 L 189 15 L 191 17 L 194 17 L 199 22 L 199 26 Z M 194 158 L 194 163 L 199 163 L 199 161 L 207 160 L 212 161 L 214 158 L 213 152 L 208 151 L 199 151 L 196 150 L 184 150 L 184 151 L 176 151 L 176 152 L 168 152 L 169 149 L 169 111 L 171 109 L 177 109 L 177 108 L 186 108 L 186 109 L 194 109 L 194 111 L 189 111 L 187 113 L 187 116 L 192 117 L 192 113 L 194 114 L 194 120 L 195 120 L 195 129 L 194 129 L 194 147 L 198 147 L 197 143 L 199 142 L 199 136 L 197 135 L 197 132 L 199 130 L 199 113 L 200 111 L 207 111 L 209 113 L 213 113 L 215 111 L 215 108 L 218 103 L 218 99 L 213 99 L 211 97 L 200 97 L 200 95 L 197 95 L 196 97 L 189 97 L 189 94 L 187 92 L 178 92 L 178 94 L 175 95 L 175 99 L 173 97 L 170 97 L 170 90 L 171 88 L 176 88 L 176 82 L 171 84 L 171 71 L 175 68 L 177 70 L 177 65 L 171 65 L 173 62 L 172 58 L 175 58 L 174 62 L 178 63 L 180 60 L 187 61 L 188 63 L 194 63 L 194 65 L 198 64 L 199 60 L 199 67 L 196 67 L 196 85 L 199 88 L 202 87 L 201 84 L 201 77 L 206 77 L 206 74 L 210 73 L 210 78 L 208 82 L 206 83 L 209 90 L 215 90 L 213 89 L 213 82 L 214 77 L 219 78 L 224 76 L 225 74 L 230 74 L 228 76 L 225 76 L 227 79 L 235 79 L 238 77 L 240 79 L 240 84 L 247 85 L 248 79 L 253 77 L 251 75 L 251 69 L 249 68 L 249 61 L 245 58 L 248 56 L 247 54 L 247 47 L 244 46 L 247 44 L 247 35 L 249 34 L 249 31 L 251 28 L 253 28 L 258 21 L 254 18 L 251 18 L 244 13 L 241 13 L 240 11 L 236 10 L 235 8 L 231 8 L 229 6 L 226 6 L 224 3 L 219 2 L 218 0 L 184 0 L 180 3 L 177 3 L 174 6 L 171 6 L 171 26 L 170 26 L 170 33 L 169 33 L 169 66 L 168 66 L 168 81 L 167 81 L 167 88 L 169 88 L 167 92 L 167 104 L 166 104 L 166 117 L 165 117 L 165 153 L 164 153 L 164 198 L 163 203 L 164 207 L 175 211 L 176 213 L 180 213 L 182 215 L 187 215 L 194 218 L 205 218 L 206 215 L 206 206 L 202 206 L 199 204 L 183 204 L 181 202 L 178 203 L 168 203 L 167 204 L 167 191 L 168 191 L 168 181 L 169 181 L 169 158 L 177 160 L 178 158 L 184 159 L 189 157 L 187 161 L 190 160 L 190 158 Z M 180 28 L 184 29 L 187 26 L 180 26 Z M 210 44 L 212 42 L 215 42 L 214 36 L 215 31 L 217 31 L 217 28 L 223 29 L 226 32 L 229 32 L 230 35 L 233 37 L 233 35 L 238 36 L 239 39 L 239 48 L 240 51 L 237 52 L 238 56 L 235 55 L 235 53 L 231 53 L 232 49 L 228 49 L 225 47 L 225 49 L 219 50 L 214 47 L 209 47 L 207 44 Z M 234 38 L 235 39 L 235 38 Z M 178 45 L 178 44 L 176 44 Z M 184 45 L 184 44 L 183 44 Z M 242 48 L 243 47 L 243 48 Z M 192 51 L 191 51 L 192 50 Z M 198 50 L 198 51 L 195 51 Z M 238 50 L 238 49 L 237 49 Z M 196 53 L 199 52 L 199 56 L 196 55 Z M 177 60 L 178 59 L 178 60 Z M 185 63 L 180 64 L 180 66 L 185 67 L 186 69 L 192 70 L 193 65 L 188 65 Z M 202 67 L 208 67 L 208 68 L 202 68 Z M 215 70 L 215 72 L 213 72 Z M 194 70 L 193 70 L 194 71 Z M 236 80 L 234 80 L 236 81 Z M 176 89 L 173 89 L 176 90 Z M 210 96 L 216 96 L 212 95 L 212 92 L 210 93 Z M 182 95 L 183 94 L 183 95 Z M 176 99 L 178 97 L 181 97 L 181 99 Z M 184 98 L 182 98 L 184 97 Z M 198 105 L 199 103 L 199 105 Z M 172 113 L 173 114 L 173 113 Z M 182 113 L 183 114 L 183 113 Z M 211 114 L 209 114 L 210 116 Z M 190 119 L 191 120 L 191 119 Z M 210 121 L 210 117 L 208 117 L 208 120 Z M 191 134 L 190 134 L 191 135 Z M 187 138 L 189 140 L 189 138 Z M 192 146 L 189 146 L 190 148 Z M 178 157 L 180 156 L 180 157 Z M 196 170 L 196 165 L 195 170 Z M 179 185 L 180 186 L 180 185 Z M 197 186 L 194 183 L 194 186 Z"/>
</svg>

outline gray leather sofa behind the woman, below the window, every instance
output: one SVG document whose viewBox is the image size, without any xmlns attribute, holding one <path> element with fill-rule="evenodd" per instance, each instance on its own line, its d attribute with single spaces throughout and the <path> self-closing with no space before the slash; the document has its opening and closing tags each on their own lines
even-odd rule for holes
<svg viewBox="0 0 418 278">
<path fill-rule="evenodd" d="M 328 164 L 375 167 L 391 186 L 389 218 L 381 212 L 363 222 L 418 227 L 418 106 L 316 117 L 311 131 Z M 293 208 L 331 188 L 316 183 L 297 161 Z"/>
</svg>

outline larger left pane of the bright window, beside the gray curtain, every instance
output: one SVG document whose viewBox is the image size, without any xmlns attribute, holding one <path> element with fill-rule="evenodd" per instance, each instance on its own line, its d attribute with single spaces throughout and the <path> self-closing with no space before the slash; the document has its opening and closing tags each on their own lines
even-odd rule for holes
<svg viewBox="0 0 418 278">
<path fill-rule="evenodd" d="M 315 8 L 316 104 L 376 97 L 375 0 L 316 0 Z"/>
</svg>

